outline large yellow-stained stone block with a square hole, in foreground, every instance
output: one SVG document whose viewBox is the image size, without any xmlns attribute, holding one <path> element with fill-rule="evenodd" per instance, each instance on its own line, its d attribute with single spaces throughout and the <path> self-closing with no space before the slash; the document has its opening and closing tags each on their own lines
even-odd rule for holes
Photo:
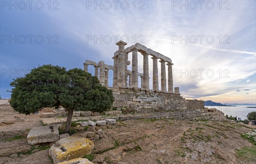
<svg viewBox="0 0 256 164">
<path fill-rule="evenodd" d="M 57 141 L 49 150 L 54 164 L 84 157 L 90 154 L 94 144 L 87 138 L 66 137 Z"/>
</svg>

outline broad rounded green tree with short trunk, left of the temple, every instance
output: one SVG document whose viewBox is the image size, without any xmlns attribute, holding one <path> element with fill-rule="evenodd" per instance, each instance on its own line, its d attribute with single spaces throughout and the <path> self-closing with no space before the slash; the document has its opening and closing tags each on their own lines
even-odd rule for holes
<svg viewBox="0 0 256 164">
<path fill-rule="evenodd" d="M 45 107 L 63 106 L 67 112 L 64 132 L 69 132 L 73 111 L 102 112 L 110 109 L 112 91 L 81 69 L 43 65 L 10 83 L 10 104 L 17 112 L 29 115 Z"/>
</svg>

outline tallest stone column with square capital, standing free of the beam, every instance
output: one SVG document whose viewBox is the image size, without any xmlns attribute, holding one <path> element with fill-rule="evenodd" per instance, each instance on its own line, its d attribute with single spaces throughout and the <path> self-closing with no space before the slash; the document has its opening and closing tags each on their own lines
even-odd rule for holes
<svg viewBox="0 0 256 164">
<path fill-rule="evenodd" d="M 120 40 L 116 43 L 118 46 L 118 68 L 117 68 L 117 84 L 125 86 L 125 45 L 127 43 Z"/>
</svg>

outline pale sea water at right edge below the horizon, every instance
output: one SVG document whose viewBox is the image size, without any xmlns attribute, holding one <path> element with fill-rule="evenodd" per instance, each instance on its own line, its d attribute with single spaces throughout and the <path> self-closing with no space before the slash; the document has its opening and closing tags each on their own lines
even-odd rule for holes
<svg viewBox="0 0 256 164">
<path fill-rule="evenodd" d="M 241 118 L 242 120 L 247 119 L 246 116 L 250 112 L 256 112 L 256 108 L 247 108 L 247 106 L 253 105 L 236 105 L 236 106 L 205 106 L 206 108 L 216 108 L 225 115 L 232 115 L 232 117 Z M 254 105 L 255 106 L 255 105 Z"/>
</svg>

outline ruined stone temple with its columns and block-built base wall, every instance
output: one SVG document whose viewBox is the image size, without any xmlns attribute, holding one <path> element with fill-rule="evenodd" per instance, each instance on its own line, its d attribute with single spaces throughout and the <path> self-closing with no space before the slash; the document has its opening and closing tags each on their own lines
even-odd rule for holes
<svg viewBox="0 0 256 164">
<path fill-rule="evenodd" d="M 95 76 L 99 78 L 102 86 L 112 89 L 115 101 L 113 107 L 124 107 L 125 109 L 136 110 L 137 112 L 157 112 L 160 109 L 165 111 L 204 109 L 204 101 L 186 100 L 180 96 L 179 87 L 173 88 L 172 60 L 158 52 L 136 43 L 125 48 L 127 43 L 119 41 L 116 43 L 118 50 L 113 56 L 113 66 L 107 65 L 104 61 L 98 64 L 95 61 L 86 60 L 84 71 L 88 72 L 88 65 L 95 67 Z M 128 61 L 128 54 L 131 53 L 132 61 Z M 143 55 L 143 73 L 138 72 L 138 52 Z M 152 61 L 148 58 L 151 57 Z M 153 77 L 149 78 L 148 62 L 153 62 Z M 158 62 L 161 68 L 158 68 Z M 131 70 L 127 66 L 131 64 Z M 166 73 L 166 65 L 168 72 Z M 108 72 L 113 70 L 113 87 L 108 86 Z M 158 70 L 160 69 L 160 77 Z M 168 75 L 168 79 L 166 79 Z M 141 88 L 138 86 L 138 78 L 141 78 Z M 158 79 L 161 83 L 158 83 Z M 128 80 L 129 79 L 129 80 Z M 153 81 L 153 88 L 149 88 L 149 80 Z M 168 84 L 168 85 L 166 85 Z M 161 86 L 161 90 L 159 90 Z"/>
</svg>

